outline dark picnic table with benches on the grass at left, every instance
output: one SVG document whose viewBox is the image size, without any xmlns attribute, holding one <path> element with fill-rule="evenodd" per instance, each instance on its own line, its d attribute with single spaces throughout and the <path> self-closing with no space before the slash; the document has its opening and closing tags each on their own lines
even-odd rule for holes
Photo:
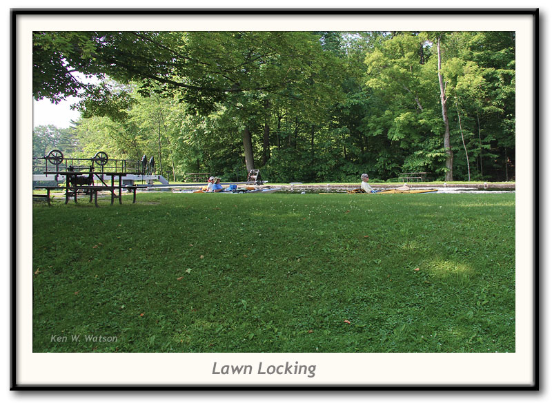
<svg viewBox="0 0 552 403">
<path fill-rule="evenodd" d="M 136 203 L 136 189 L 138 185 L 123 185 L 123 176 L 128 175 L 128 172 L 77 172 L 77 171 L 49 171 L 48 174 L 66 176 L 66 185 L 65 187 L 58 186 L 39 186 L 37 189 L 46 189 L 46 199 L 48 200 L 48 205 L 50 204 L 50 192 L 56 189 L 64 189 L 65 191 L 65 204 L 68 203 L 70 198 L 74 198 L 75 203 L 77 203 L 77 194 L 79 192 L 84 192 L 90 196 L 90 202 L 94 198 L 95 205 L 98 207 L 98 192 L 108 191 L 111 193 L 111 205 L 115 198 L 119 199 L 119 204 L 123 204 L 122 191 L 128 189 L 133 192 L 132 203 Z M 46 174 L 46 172 L 45 172 Z M 92 176 L 92 178 L 97 178 L 102 185 L 94 185 L 93 180 L 91 183 L 79 184 L 77 176 Z M 111 178 L 111 183 L 106 183 L 106 176 Z M 115 178 L 118 178 L 117 184 L 115 184 Z M 109 179 L 107 179 L 109 182 Z"/>
</svg>

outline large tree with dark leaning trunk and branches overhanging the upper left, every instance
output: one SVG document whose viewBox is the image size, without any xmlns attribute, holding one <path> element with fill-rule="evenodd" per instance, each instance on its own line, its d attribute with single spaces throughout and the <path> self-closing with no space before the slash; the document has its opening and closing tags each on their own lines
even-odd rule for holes
<svg viewBox="0 0 552 403">
<path fill-rule="evenodd" d="M 71 46 L 55 52 L 43 45 L 55 35 L 35 32 L 34 37 L 37 52 L 43 59 L 55 59 L 58 68 L 55 74 L 37 74 L 37 87 L 55 82 L 66 68 L 106 75 L 119 83 L 134 81 L 144 96 L 177 96 L 190 112 L 205 115 L 220 103 L 235 107 L 244 115 L 242 134 L 248 168 L 253 167 L 246 128 L 251 116 L 243 107 L 247 105 L 244 101 L 262 94 L 305 101 L 304 94 L 311 93 L 313 85 L 333 87 L 328 83 L 331 74 L 322 70 L 327 63 L 317 53 L 321 48 L 318 37 L 308 32 L 74 33 L 63 36 Z M 77 54 L 82 60 L 75 57 Z M 63 90 L 63 86 L 52 87 L 48 96 L 62 97 Z M 84 90 L 86 101 L 81 106 L 90 114 L 124 118 L 129 105 L 121 92 L 105 85 Z"/>
</svg>

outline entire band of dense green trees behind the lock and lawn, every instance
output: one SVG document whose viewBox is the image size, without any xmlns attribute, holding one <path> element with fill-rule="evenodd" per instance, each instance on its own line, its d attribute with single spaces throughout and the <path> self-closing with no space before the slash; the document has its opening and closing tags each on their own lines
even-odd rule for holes
<svg viewBox="0 0 552 403">
<path fill-rule="evenodd" d="M 515 179 L 514 32 L 34 32 L 33 95 L 81 99 L 34 156 L 169 180 Z"/>
</svg>

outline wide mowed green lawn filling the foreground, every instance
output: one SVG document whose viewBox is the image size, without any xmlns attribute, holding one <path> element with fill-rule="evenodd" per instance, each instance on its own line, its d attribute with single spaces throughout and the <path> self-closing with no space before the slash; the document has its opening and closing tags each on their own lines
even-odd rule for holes
<svg viewBox="0 0 552 403">
<path fill-rule="evenodd" d="M 34 352 L 515 351 L 514 194 L 125 198 L 34 205 Z"/>
</svg>

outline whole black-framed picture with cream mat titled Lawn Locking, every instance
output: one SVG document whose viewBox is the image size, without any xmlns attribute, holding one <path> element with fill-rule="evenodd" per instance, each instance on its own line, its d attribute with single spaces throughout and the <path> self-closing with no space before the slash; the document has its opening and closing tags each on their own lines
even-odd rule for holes
<svg viewBox="0 0 552 403">
<path fill-rule="evenodd" d="M 11 389 L 538 390 L 538 17 L 12 10 Z"/>
</svg>

